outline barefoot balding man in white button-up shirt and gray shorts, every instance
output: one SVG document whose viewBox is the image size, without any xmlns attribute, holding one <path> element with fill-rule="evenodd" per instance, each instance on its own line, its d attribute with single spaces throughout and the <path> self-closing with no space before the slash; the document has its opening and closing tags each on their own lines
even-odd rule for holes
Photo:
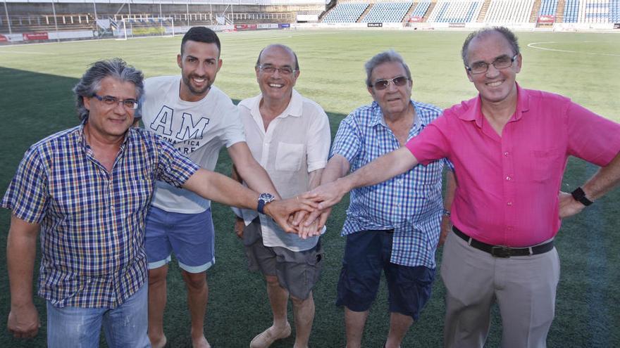
<svg viewBox="0 0 620 348">
<path fill-rule="evenodd" d="M 293 89 L 299 62 L 290 48 L 267 46 L 259 54 L 255 70 L 261 94 L 239 103 L 247 143 L 282 197 L 295 197 L 321 181 L 330 148 L 329 120 L 320 105 Z M 243 238 L 250 269 L 260 270 L 266 278 L 273 311 L 273 326 L 256 335 L 250 347 L 269 347 L 290 335 L 290 296 L 294 347 L 306 348 L 314 321 L 312 288 L 323 264 L 319 237 L 302 239 L 287 234 L 272 219 L 251 210 L 243 210 L 241 215 L 235 230 Z"/>
</svg>

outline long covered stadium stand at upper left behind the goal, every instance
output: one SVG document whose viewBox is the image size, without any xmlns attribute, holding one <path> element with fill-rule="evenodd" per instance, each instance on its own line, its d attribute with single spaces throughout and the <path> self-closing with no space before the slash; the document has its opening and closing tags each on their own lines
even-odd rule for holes
<svg viewBox="0 0 620 348">
<path fill-rule="evenodd" d="M 290 3 L 278 5 L 266 0 L 235 0 L 234 3 L 223 0 L 218 4 L 195 1 L 159 4 L 148 0 L 130 3 L 122 0 L 5 1 L 0 34 L 87 30 L 105 37 L 104 33 L 118 29 L 123 19 L 128 27 L 148 27 L 149 24 L 152 27 L 153 18 L 173 18 L 175 26 L 251 25 L 292 23 L 296 22 L 298 12 L 315 13 L 314 18 L 318 18 L 318 14 L 325 11 L 324 0 L 290 0 Z M 109 22 L 111 27 L 97 27 L 97 20 Z"/>
</svg>

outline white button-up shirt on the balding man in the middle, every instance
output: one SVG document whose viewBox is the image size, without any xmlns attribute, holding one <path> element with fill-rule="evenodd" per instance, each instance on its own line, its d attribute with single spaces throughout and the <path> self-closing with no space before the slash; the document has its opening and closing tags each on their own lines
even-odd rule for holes
<svg viewBox="0 0 620 348">
<path fill-rule="evenodd" d="M 247 145 L 254 159 L 266 169 L 282 198 L 291 198 L 308 191 L 309 173 L 327 164 L 331 140 L 329 120 L 321 105 L 293 90 L 287 108 L 269 123 L 265 131 L 259 110 L 261 99 L 262 95 L 259 95 L 239 103 Z M 242 211 L 246 224 L 257 214 L 252 210 Z M 318 240 L 318 237 L 303 240 L 297 234 L 285 233 L 265 215 L 261 215 L 261 228 L 263 244 L 268 247 L 302 251 L 314 247 Z"/>
</svg>

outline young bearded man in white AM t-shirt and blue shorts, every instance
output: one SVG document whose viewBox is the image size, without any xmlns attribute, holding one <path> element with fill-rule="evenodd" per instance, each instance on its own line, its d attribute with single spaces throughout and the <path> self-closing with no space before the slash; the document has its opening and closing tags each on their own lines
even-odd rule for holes
<svg viewBox="0 0 620 348">
<path fill-rule="evenodd" d="M 219 150 L 226 146 L 247 186 L 270 193 L 269 199 L 279 198 L 267 173 L 249 152 L 237 107 L 213 86 L 222 66 L 220 50 L 220 41 L 209 28 L 192 27 L 185 34 L 177 56 L 181 75 L 145 81 L 144 128 L 163 136 L 206 169 L 216 167 Z M 151 344 L 166 345 L 166 274 L 174 252 L 187 285 L 192 345 L 210 347 L 203 328 L 209 296 L 206 269 L 215 262 L 211 202 L 158 181 L 146 231 Z"/>
</svg>

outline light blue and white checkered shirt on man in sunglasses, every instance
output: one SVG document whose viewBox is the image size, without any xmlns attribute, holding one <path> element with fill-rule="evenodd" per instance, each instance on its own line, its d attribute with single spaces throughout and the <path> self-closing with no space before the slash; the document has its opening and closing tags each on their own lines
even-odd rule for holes
<svg viewBox="0 0 620 348">
<path fill-rule="evenodd" d="M 434 105 L 411 101 L 416 122 L 409 137 L 418 135 L 442 113 Z M 345 157 L 351 172 L 392 150 L 400 148 L 396 136 L 383 120 L 378 103 L 358 108 L 340 123 L 332 156 Z M 435 268 L 435 247 L 440 235 L 442 169 L 448 160 L 419 165 L 374 186 L 351 191 L 342 236 L 366 230 L 394 229 L 390 262 L 404 266 Z"/>
</svg>

